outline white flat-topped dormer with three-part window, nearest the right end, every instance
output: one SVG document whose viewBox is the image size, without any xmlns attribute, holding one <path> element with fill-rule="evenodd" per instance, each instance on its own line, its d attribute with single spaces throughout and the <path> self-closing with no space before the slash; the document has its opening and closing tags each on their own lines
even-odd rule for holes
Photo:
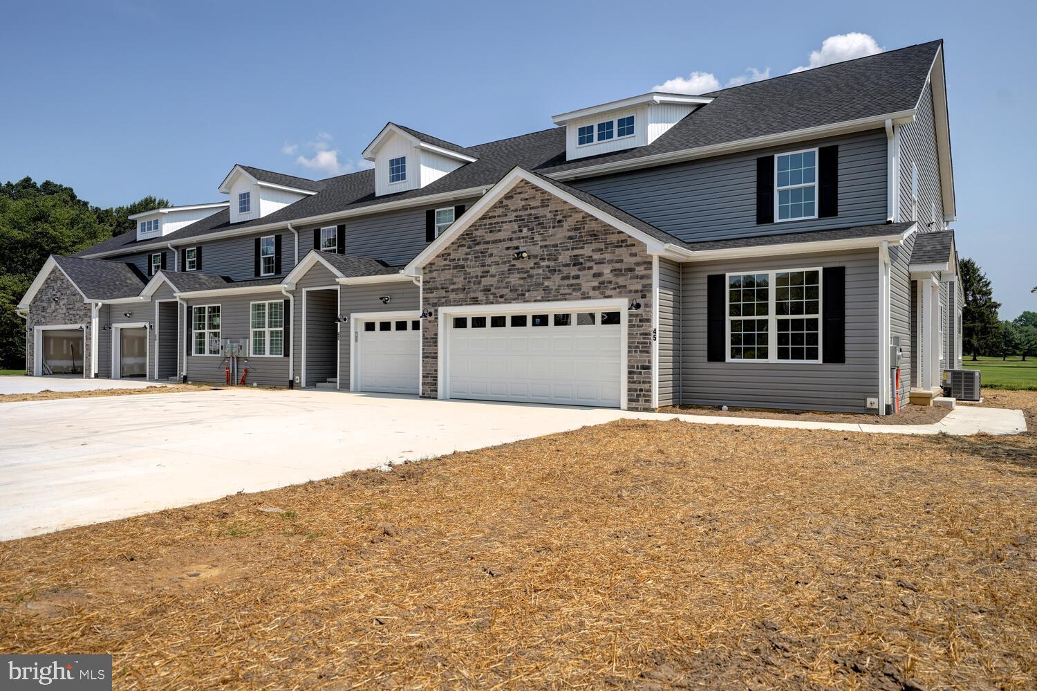
<svg viewBox="0 0 1037 691">
<path fill-rule="evenodd" d="M 565 160 L 645 146 L 711 96 L 651 91 L 555 115 L 565 128 Z"/>
</svg>

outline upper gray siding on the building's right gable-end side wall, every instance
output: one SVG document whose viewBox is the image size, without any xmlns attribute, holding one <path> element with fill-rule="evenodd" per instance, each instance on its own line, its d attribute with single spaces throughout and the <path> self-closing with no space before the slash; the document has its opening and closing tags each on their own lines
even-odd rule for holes
<svg viewBox="0 0 1037 691">
<path fill-rule="evenodd" d="M 900 214 L 897 220 L 918 220 L 919 230 L 944 228 L 944 204 L 940 185 L 940 160 L 936 153 L 936 130 L 932 114 L 932 89 L 927 84 L 919 101 L 914 122 L 897 130 L 900 146 Z M 918 218 L 913 217 L 912 164 L 918 167 Z M 928 225 L 932 205 L 936 209 L 933 225 Z"/>
</svg>

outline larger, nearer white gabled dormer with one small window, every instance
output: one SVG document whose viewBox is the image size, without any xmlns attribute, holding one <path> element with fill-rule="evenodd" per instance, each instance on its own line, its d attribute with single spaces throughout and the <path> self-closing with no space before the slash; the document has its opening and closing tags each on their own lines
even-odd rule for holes
<svg viewBox="0 0 1037 691">
<path fill-rule="evenodd" d="M 389 122 L 361 154 L 374 162 L 374 194 L 417 190 L 476 159 L 463 146 Z"/>
</svg>

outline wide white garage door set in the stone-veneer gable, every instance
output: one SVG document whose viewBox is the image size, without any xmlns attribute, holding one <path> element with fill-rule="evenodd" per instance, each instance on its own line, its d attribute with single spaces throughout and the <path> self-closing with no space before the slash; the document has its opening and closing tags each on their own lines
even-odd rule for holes
<svg viewBox="0 0 1037 691">
<path fill-rule="evenodd" d="M 618 407 L 621 311 L 451 315 L 450 397 Z"/>
</svg>

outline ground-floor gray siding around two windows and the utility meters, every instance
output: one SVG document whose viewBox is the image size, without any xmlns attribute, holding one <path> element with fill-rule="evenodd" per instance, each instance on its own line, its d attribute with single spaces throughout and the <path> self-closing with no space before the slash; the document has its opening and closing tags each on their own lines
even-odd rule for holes
<svg viewBox="0 0 1037 691">
<path fill-rule="evenodd" d="M 220 338 L 249 338 L 249 310 L 250 303 L 270 300 L 284 300 L 280 292 L 255 293 L 241 296 L 222 296 L 216 298 L 202 298 L 189 301 L 189 307 L 195 305 L 220 305 Z M 190 327 L 192 325 L 191 311 L 188 312 L 188 334 L 181 340 L 180 348 L 188 350 L 191 342 Z M 249 357 L 249 376 L 246 385 L 253 383 L 263 386 L 287 386 L 288 384 L 288 358 L 286 357 Z M 187 358 L 187 374 L 189 382 L 205 382 L 225 384 L 226 363 L 220 355 L 197 356 L 190 355 Z M 239 372 L 241 378 L 241 372 Z"/>
</svg>

